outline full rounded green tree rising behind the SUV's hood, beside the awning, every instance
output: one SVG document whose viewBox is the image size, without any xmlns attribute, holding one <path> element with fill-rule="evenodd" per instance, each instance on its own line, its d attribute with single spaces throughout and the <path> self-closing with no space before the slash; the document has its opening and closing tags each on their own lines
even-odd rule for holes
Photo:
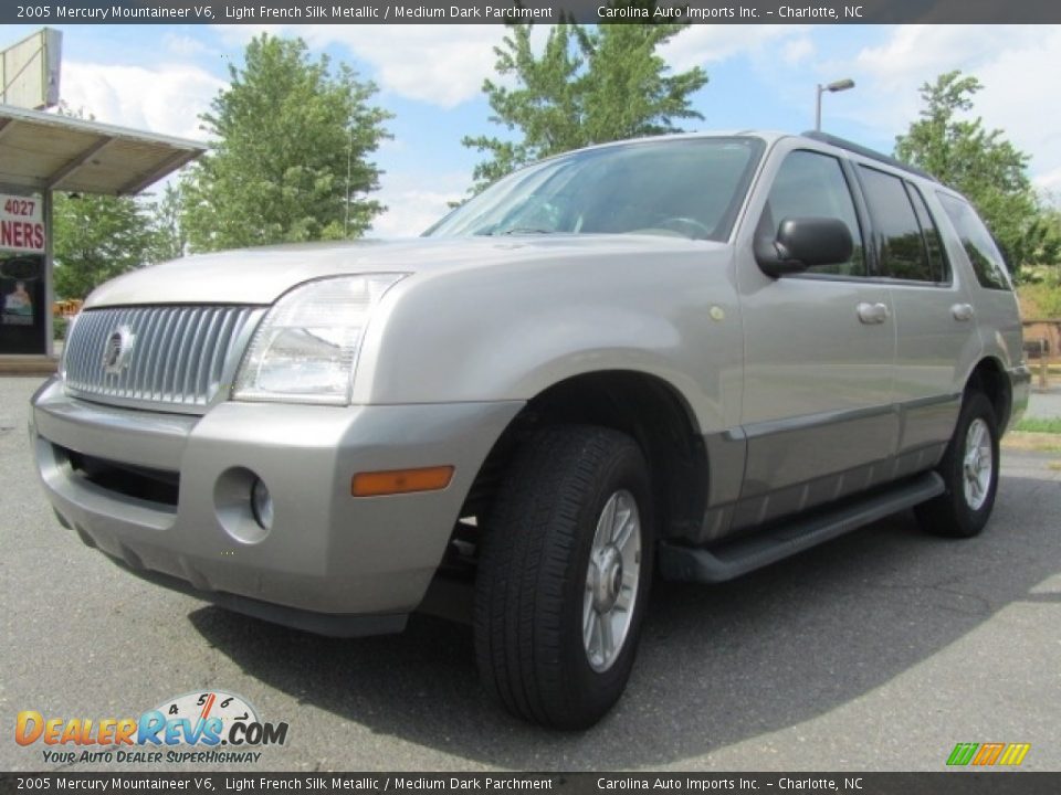
<svg viewBox="0 0 1061 795">
<path fill-rule="evenodd" d="M 201 119 L 212 151 L 182 186 L 191 248 L 212 251 L 358 237 L 384 206 L 367 195 L 380 171 L 367 158 L 390 114 L 346 64 L 311 60 L 301 39 L 262 34 Z"/>
</svg>

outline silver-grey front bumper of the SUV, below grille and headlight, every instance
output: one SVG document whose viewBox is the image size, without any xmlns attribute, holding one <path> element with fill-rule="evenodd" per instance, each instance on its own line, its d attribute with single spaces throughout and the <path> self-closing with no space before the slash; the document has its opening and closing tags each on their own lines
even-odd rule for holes
<svg viewBox="0 0 1061 795">
<path fill-rule="evenodd" d="M 161 584 L 233 610 L 351 635 L 400 629 L 518 401 L 327 407 L 222 403 L 203 416 L 102 406 L 57 379 L 33 398 L 38 469 L 64 524 Z M 179 476 L 174 504 L 101 486 L 92 456 Z M 438 491 L 350 496 L 359 471 L 454 466 Z M 254 477 L 274 521 L 250 507 Z"/>
</svg>

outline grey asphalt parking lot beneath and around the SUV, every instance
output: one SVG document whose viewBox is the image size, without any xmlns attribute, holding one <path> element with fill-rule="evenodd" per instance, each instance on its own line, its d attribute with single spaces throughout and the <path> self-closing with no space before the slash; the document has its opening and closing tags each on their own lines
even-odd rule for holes
<svg viewBox="0 0 1061 795">
<path fill-rule="evenodd" d="M 619 707 L 556 734 L 487 701 L 466 627 L 319 638 L 85 548 L 35 481 L 39 382 L 0 379 L 2 770 L 57 767 L 14 742 L 20 710 L 134 717 L 208 688 L 290 724 L 259 771 L 938 771 L 957 742 L 1030 743 L 1025 768 L 1061 770 L 1061 453 L 1004 453 L 980 538 L 904 513 L 726 585 L 658 587 Z M 130 767 L 74 767 L 101 768 Z"/>
</svg>

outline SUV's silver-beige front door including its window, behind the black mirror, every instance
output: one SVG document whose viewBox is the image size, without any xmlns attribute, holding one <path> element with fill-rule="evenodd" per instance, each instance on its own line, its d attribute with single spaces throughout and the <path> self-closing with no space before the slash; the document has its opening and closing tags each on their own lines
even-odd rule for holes
<svg viewBox="0 0 1061 795">
<path fill-rule="evenodd" d="M 852 172 L 827 152 L 779 147 L 737 241 L 747 465 L 735 529 L 883 483 L 899 437 L 894 307 L 889 286 L 869 278 Z M 755 235 L 799 216 L 844 221 L 851 259 L 766 276 Z"/>
</svg>

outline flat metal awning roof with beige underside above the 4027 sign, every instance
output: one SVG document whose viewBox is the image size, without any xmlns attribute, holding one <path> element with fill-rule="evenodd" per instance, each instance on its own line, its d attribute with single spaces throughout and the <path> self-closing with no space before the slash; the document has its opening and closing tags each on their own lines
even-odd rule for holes
<svg viewBox="0 0 1061 795">
<path fill-rule="evenodd" d="M 132 195 L 206 150 L 186 138 L 0 105 L 0 186 Z"/>
</svg>

